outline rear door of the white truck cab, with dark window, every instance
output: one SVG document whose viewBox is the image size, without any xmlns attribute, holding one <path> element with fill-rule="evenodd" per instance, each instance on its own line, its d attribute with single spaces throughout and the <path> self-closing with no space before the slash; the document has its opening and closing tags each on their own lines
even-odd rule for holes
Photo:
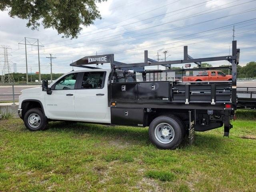
<svg viewBox="0 0 256 192">
<path fill-rule="evenodd" d="M 91 71 L 84 72 L 81 76 L 74 98 L 78 120 L 110 122 L 110 118 L 106 115 L 110 113 L 106 80 L 108 75 L 106 71 Z"/>
</svg>

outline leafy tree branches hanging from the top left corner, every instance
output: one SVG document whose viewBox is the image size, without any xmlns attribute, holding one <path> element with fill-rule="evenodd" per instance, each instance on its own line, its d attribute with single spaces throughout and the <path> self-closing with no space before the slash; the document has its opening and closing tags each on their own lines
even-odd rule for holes
<svg viewBox="0 0 256 192">
<path fill-rule="evenodd" d="M 81 25 L 89 26 L 101 19 L 97 2 L 106 0 L 1 0 L 0 10 L 10 17 L 28 20 L 27 27 L 54 28 L 58 34 L 77 38 Z"/>
</svg>

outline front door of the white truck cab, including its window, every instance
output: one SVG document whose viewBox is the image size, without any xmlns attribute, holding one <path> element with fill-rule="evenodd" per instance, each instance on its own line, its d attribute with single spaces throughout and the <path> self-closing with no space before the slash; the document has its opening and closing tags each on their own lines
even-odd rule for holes
<svg viewBox="0 0 256 192">
<path fill-rule="evenodd" d="M 48 118 L 75 120 L 74 97 L 78 73 L 67 74 L 52 87 L 52 94 L 45 94 L 45 106 Z"/>
</svg>

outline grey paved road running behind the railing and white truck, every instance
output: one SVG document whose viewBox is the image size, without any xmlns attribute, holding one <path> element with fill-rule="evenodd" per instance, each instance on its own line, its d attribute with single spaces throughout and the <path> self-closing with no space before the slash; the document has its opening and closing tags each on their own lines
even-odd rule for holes
<svg viewBox="0 0 256 192">
<path fill-rule="evenodd" d="M 23 89 L 32 87 L 39 87 L 40 85 L 17 85 L 14 86 L 14 94 L 20 94 Z M 256 87 L 256 81 L 254 82 L 237 82 L 238 87 Z M 12 94 L 12 86 L 0 86 L 0 94 Z M 18 100 L 19 96 L 16 95 L 15 100 Z M 0 96 L 0 101 L 12 101 L 12 96 Z"/>
</svg>

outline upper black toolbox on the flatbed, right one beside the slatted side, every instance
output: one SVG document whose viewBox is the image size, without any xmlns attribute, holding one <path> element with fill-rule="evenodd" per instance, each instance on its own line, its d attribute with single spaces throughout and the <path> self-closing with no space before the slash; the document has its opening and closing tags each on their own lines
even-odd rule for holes
<svg viewBox="0 0 256 192">
<path fill-rule="evenodd" d="M 140 82 L 140 100 L 170 100 L 170 82 Z"/>
</svg>

